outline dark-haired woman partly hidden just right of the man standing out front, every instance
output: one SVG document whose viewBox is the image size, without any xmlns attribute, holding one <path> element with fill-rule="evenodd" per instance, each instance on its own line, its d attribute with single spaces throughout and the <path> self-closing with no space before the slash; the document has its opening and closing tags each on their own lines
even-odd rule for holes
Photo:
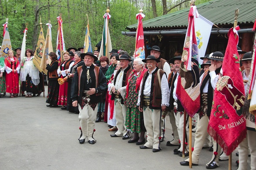
<svg viewBox="0 0 256 170">
<path fill-rule="evenodd" d="M 106 72 L 109 68 L 109 59 L 106 56 L 101 56 L 100 58 L 100 69 L 103 72 L 104 75 L 106 75 Z M 107 80 L 108 82 L 108 80 Z M 107 88 L 105 89 L 104 93 L 102 94 L 101 102 L 98 103 L 98 112 L 97 112 L 97 119 L 95 122 L 100 122 L 101 119 L 104 119 L 105 114 L 105 101 L 106 101 L 106 94 L 107 94 Z"/>
</svg>

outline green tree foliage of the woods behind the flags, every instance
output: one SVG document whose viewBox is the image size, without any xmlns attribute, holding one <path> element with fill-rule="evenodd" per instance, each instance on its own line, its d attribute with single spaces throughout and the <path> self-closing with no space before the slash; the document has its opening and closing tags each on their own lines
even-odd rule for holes
<svg viewBox="0 0 256 170">
<path fill-rule="evenodd" d="M 180 0 L 167 0 L 168 8 Z M 201 2 L 209 0 L 198 0 Z M 69 47 L 82 47 L 84 45 L 87 16 L 89 17 L 90 36 L 94 47 L 100 40 L 103 31 L 103 15 L 110 7 L 111 19 L 109 29 L 113 49 L 124 49 L 131 55 L 135 48 L 135 37 L 123 36 L 126 26 L 137 23 L 136 14 L 139 12 L 137 0 L 5 0 L 0 1 L 0 23 L 6 22 L 9 18 L 8 28 L 13 49 L 20 47 L 23 40 L 23 31 L 27 23 L 27 48 L 35 49 L 35 44 L 40 31 L 40 17 L 44 36 L 47 33 L 46 23 L 51 20 L 52 44 L 56 48 L 57 39 L 57 16 L 62 14 L 64 41 L 66 49 Z M 144 3 L 143 13 L 146 15 L 143 20 L 153 18 L 152 5 L 150 0 L 142 0 Z M 196 1 L 197 2 L 197 1 Z M 178 2 L 179 3 L 179 2 Z M 162 0 L 156 0 L 157 14 L 162 14 Z M 186 6 L 187 7 L 187 6 Z M 184 7 L 177 7 L 180 10 Z M 171 12 L 173 12 L 172 10 Z M 38 14 L 38 15 L 37 15 Z M 3 30 L 3 29 L 2 29 Z M 2 30 L 0 34 L 2 34 Z M 34 40 L 33 40 L 34 37 Z M 1 36 L 0 41 L 3 37 Z"/>
</svg>

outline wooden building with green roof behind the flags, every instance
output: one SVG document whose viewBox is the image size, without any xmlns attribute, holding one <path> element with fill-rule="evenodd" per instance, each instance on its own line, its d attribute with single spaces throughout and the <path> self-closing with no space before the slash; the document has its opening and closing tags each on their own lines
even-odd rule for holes
<svg viewBox="0 0 256 170">
<path fill-rule="evenodd" d="M 212 0 L 196 7 L 200 15 L 214 23 L 206 54 L 226 50 L 227 33 L 233 26 L 236 9 L 239 9 L 238 25 L 240 27 L 238 46 L 246 52 L 252 50 L 256 0 Z M 164 51 L 162 58 L 166 60 L 171 59 L 175 51 L 182 51 L 189 9 L 143 21 L 145 48 L 159 46 Z M 137 23 L 127 26 L 128 31 L 122 34 L 135 36 L 137 26 Z M 148 56 L 147 53 L 146 56 Z"/>
</svg>

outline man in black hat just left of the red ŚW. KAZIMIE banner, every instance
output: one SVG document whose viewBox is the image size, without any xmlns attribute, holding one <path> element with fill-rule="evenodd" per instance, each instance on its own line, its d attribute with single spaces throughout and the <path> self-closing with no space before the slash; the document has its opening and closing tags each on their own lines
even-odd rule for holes
<svg viewBox="0 0 256 170">
<path fill-rule="evenodd" d="M 208 57 L 211 59 L 211 66 L 208 72 L 204 72 L 200 77 L 200 94 L 201 94 L 201 108 L 199 109 L 199 120 L 197 121 L 197 129 L 195 132 L 195 144 L 194 151 L 192 153 L 192 165 L 198 165 L 199 154 L 202 150 L 205 138 L 208 135 L 207 127 L 209 124 L 209 118 L 212 108 L 213 90 L 216 87 L 216 83 L 221 71 L 224 55 L 222 52 L 213 52 Z M 221 147 L 215 140 L 212 139 L 213 153 L 212 159 L 206 164 L 206 169 L 215 169 L 219 167 L 219 155 Z M 180 162 L 183 166 L 189 166 L 189 158 Z"/>
</svg>

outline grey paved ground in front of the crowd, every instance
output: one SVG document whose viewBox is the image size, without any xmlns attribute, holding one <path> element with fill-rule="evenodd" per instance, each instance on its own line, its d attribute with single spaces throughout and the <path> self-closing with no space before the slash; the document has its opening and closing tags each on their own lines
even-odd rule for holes
<svg viewBox="0 0 256 170">
<path fill-rule="evenodd" d="M 42 95 L 0 98 L 0 170 L 189 169 L 179 165 L 183 159 L 173 155 L 175 147 L 165 145 L 172 140 L 168 117 L 166 138 L 157 153 L 141 150 L 121 137 L 111 138 L 112 132 L 104 122 L 95 125 L 96 144 L 79 144 L 78 114 L 62 111 L 61 107 L 47 108 L 45 101 Z M 199 166 L 193 169 L 205 170 L 211 154 L 203 149 Z M 238 157 L 235 152 L 232 155 L 232 170 L 236 170 Z M 228 161 L 221 162 L 218 170 L 227 169 Z"/>
</svg>

